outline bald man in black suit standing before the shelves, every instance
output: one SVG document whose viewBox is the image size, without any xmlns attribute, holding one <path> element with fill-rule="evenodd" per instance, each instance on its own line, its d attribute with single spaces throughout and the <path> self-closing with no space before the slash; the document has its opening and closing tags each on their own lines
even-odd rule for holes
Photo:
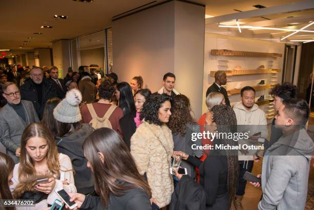
<svg viewBox="0 0 314 210">
<path fill-rule="evenodd" d="M 227 83 L 227 75 L 224 71 L 216 71 L 215 72 L 215 82 L 207 89 L 206 97 L 211 92 L 220 92 L 224 95 L 226 105 L 230 106 L 230 101 L 228 98 L 227 90 L 222 87 Z"/>
</svg>

